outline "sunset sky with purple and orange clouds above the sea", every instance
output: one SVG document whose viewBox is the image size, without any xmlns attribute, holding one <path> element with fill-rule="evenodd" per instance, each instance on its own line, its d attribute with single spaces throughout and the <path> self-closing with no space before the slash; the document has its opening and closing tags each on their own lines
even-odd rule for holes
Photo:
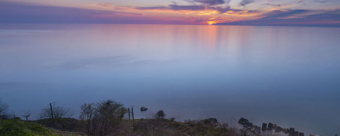
<svg viewBox="0 0 340 136">
<path fill-rule="evenodd" d="M 340 0 L 0 0 L 0 23 L 340 27 Z"/>
</svg>

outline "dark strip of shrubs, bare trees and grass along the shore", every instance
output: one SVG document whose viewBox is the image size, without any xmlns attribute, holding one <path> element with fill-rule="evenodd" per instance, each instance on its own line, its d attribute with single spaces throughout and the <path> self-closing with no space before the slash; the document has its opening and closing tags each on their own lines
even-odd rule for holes
<svg viewBox="0 0 340 136">
<path fill-rule="evenodd" d="M 72 115 L 70 110 L 55 104 L 43 108 L 36 121 L 28 120 L 30 110 L 23 112 L 26 121 L 22 121 L 14 112 L 9 119 L 8 106 L 1 101 L 0 108 L 6 117 L 0 121 L 0 136 L 247 136 L 214 118 L 179 122 L 167 119 L 163 110 L 146 119 L 128 120 L 130 111 L 113 100 L 83 104 L 79 120 L 67 118 Z"/>
</svg>

